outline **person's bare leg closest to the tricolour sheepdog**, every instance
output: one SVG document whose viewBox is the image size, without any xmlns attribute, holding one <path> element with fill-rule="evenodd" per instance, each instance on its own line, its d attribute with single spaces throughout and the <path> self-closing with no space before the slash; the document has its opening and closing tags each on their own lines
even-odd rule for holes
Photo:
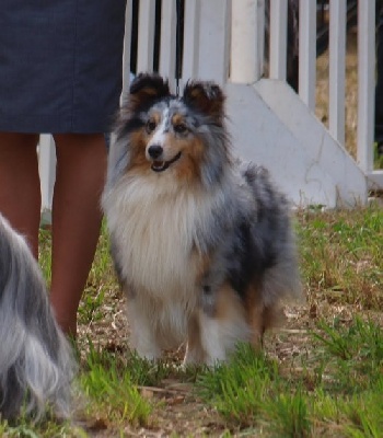
<svg viewBox="0 0 383 438">
<path fill-rule="evenodd" d="M 97 245 L 106 172 L 102 134 L 55 135 L 50 301 L 65 333 L 76 336 L 77 310 Z"/>
</svg>

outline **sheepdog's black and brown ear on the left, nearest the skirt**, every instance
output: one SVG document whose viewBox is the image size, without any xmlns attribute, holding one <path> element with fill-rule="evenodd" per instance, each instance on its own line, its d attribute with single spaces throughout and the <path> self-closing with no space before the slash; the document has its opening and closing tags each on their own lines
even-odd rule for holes
<svg viewBox="0 0 383 438">
<path fill-rule="evenodd" d="M 139 73 L 130 84 L 129 110 L 137 111 L 167 95 L 170 95 L 169 83 L 161 76 Z"/>
</svg>

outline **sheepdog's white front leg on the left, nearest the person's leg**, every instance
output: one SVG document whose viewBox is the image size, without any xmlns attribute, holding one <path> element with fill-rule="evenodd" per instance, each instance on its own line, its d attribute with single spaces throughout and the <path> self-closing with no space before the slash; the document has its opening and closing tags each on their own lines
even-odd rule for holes
<svg viewBox="0 0 383 438">
<path fill-rule="evenodd" d="M 128 301 L 128 321 L 130 325 L 130 346 L 148 360 L 161 357 L 161 348 L 155 335 L 155 316 L 150 318 L 150 306 L 144 307 L 139 295 Z"/>
</svg>

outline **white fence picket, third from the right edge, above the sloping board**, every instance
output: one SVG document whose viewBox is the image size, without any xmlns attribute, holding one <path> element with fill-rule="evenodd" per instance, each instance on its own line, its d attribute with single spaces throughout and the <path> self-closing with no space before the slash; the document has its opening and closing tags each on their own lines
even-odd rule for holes
<svg viewBox="0 0 383 438">
<path fill-rule="evenodd" d="M 299 2 L 299 95 L 314 112 L 316 82 L 316 0 Z"/>
</svg>

